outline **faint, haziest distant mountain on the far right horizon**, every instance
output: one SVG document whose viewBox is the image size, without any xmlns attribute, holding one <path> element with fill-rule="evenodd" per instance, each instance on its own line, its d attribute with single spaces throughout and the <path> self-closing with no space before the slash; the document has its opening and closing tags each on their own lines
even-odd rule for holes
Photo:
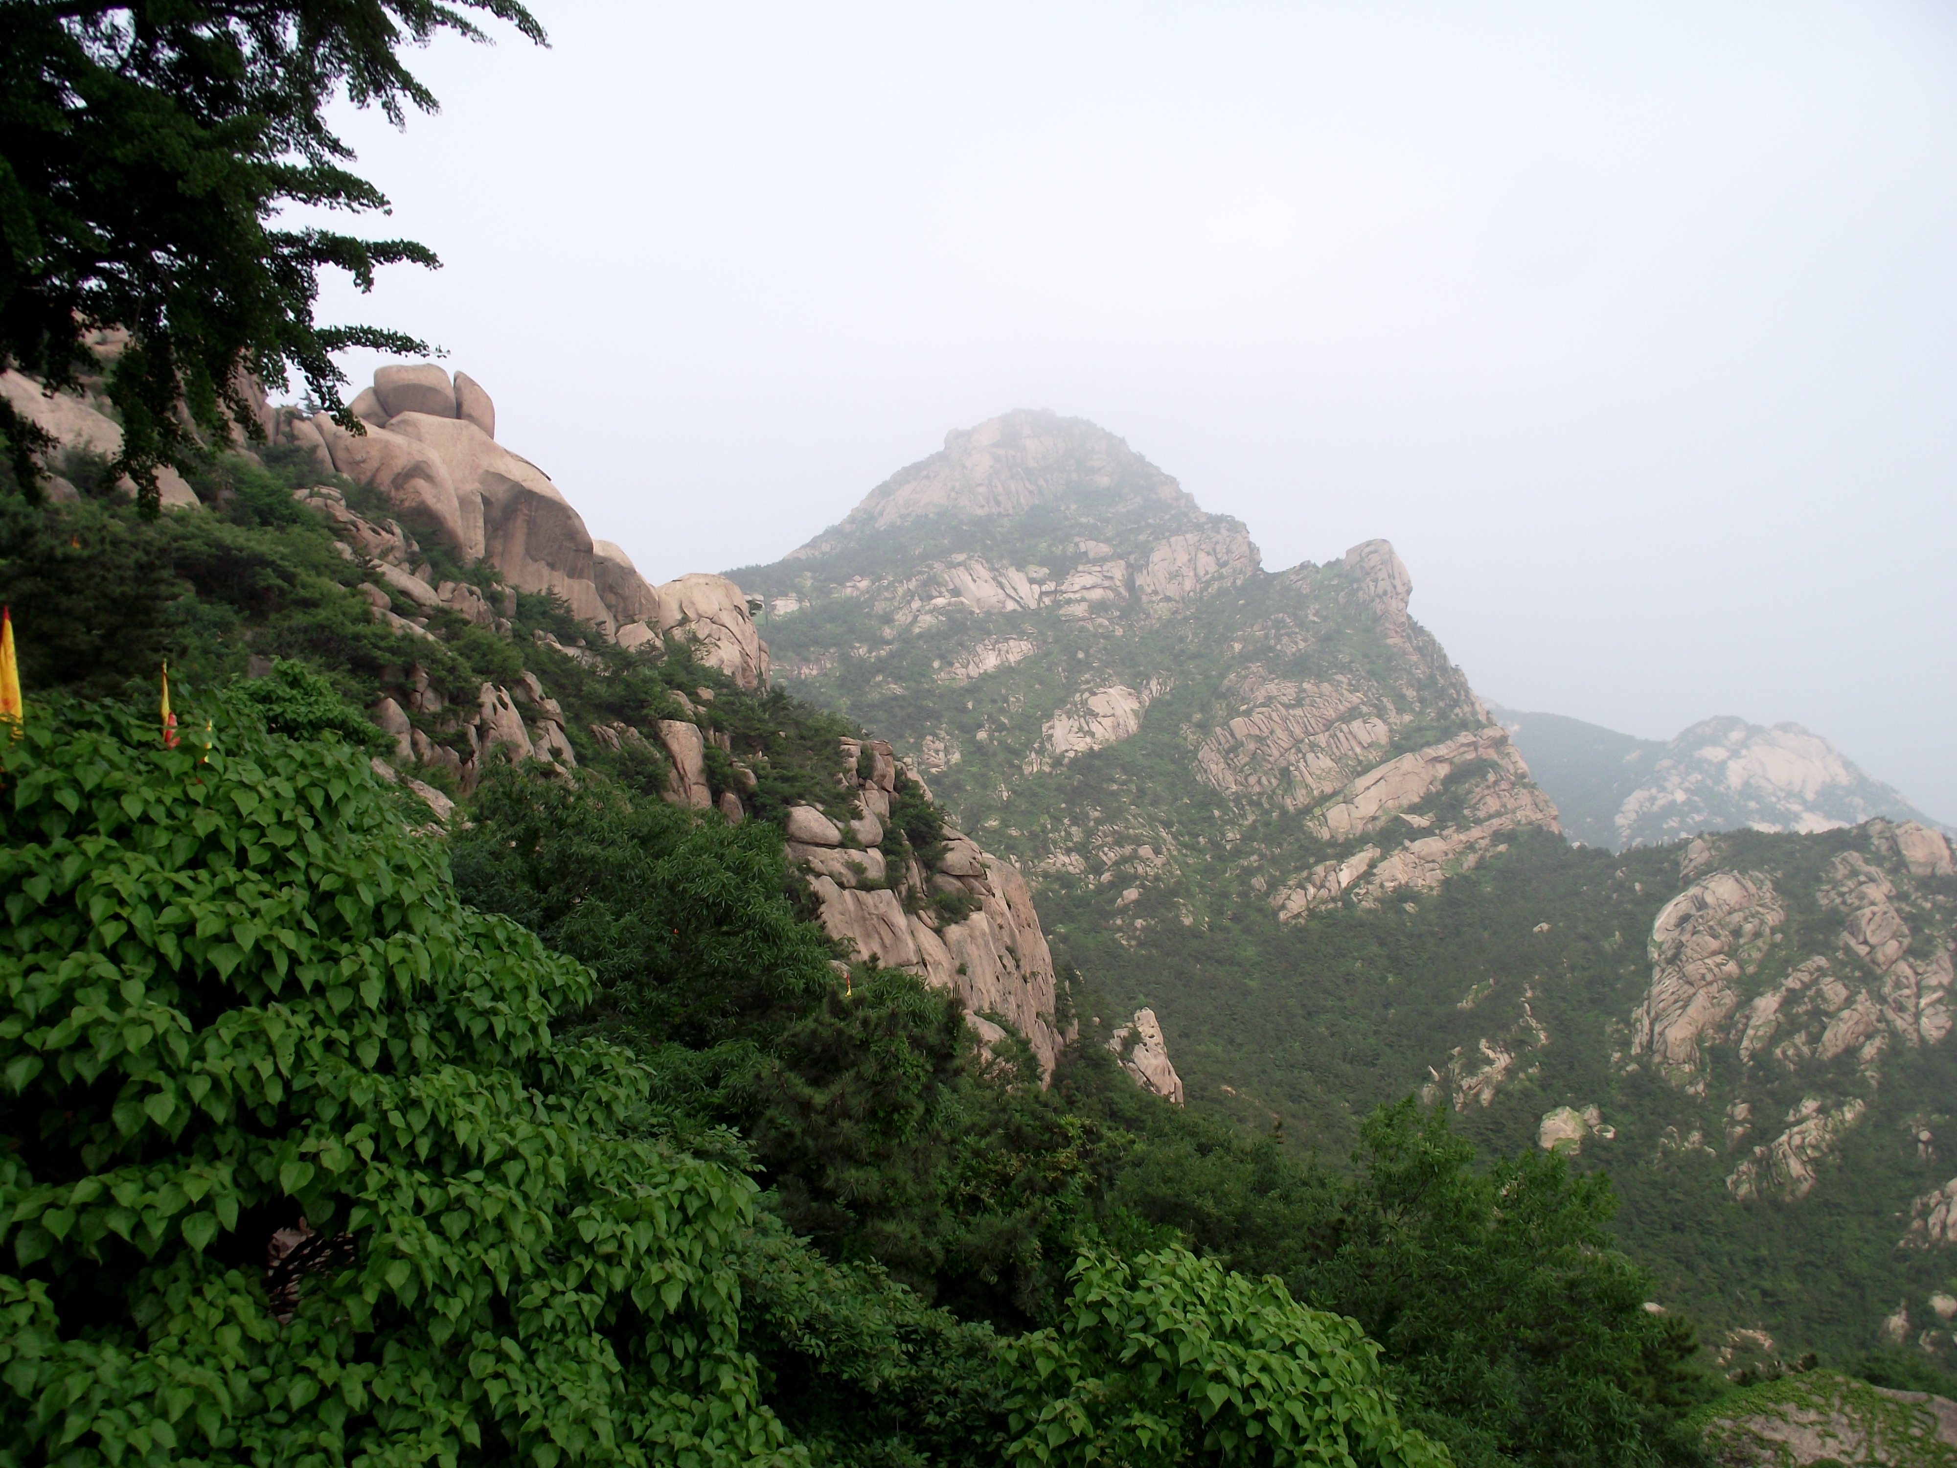
<svg viewBox="0 0 1957 1468">
<path fill-rule="evenodd" d="M 1622 851 L 1722 830 L 1824 832 L 1875 816 L 1939 822 L 1800 724 L 1705 718 L 1669 744 L 1489 705 L 1573 842 Z"/>
</svg>

